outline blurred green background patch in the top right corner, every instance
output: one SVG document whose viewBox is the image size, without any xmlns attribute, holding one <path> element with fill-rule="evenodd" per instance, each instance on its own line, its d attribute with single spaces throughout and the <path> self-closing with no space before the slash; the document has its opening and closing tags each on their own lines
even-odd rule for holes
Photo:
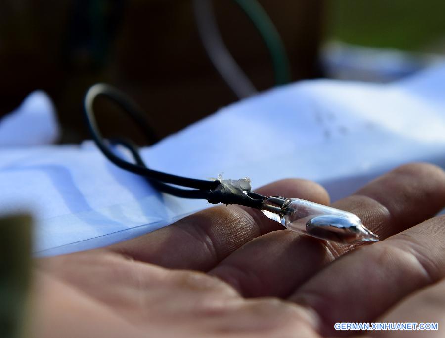
<svg viewBox="0 0 445 338">
<path fill-rule="evenodd" d="M 327 37 L 445 54 L 445 0 L 330 0 Z"/>
</svg>

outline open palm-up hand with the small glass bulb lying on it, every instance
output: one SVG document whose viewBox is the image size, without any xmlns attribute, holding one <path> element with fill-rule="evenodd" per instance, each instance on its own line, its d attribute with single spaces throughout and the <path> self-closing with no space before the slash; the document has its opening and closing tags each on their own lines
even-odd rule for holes
<svg viewBox="0 0 445 338">
<path fill-rule="evenodd" d="M 259 190 L 329 204 L 319 185 Z M 32 337 L 444 337 L 445 173 L 402 166 L 333 204 L 381 241 L 327 244 L 217 206 L 116 245 L 36 262 Z M 438 331 L 335 331 L 336 322 Z"/>
</svg>

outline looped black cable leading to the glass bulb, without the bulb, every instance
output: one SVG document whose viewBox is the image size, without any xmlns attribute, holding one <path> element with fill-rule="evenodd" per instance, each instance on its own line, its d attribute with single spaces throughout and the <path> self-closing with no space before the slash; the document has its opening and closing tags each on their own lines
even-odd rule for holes
<svg viewBox="0 0 445 338">
<path fill-rule="evenodd" d="M 97 128 L 97 123 L 94 118 L 94 100 L 100 95 L 112 99 L 127 113 L 130 113 L 132 118 L 136 122 L 139 122 L 141 126 L 147 127 L 148 125 L 145 123 L 145 121 L 142 122 L 143 113 L 141 113 L 141 110 L 133 101 L 129 100 L 124 93 L 105 84 L 96 84 L 89 88 L 84 102 L 85 116 L 87 118 L 89 131 L 91 132 L 91 136 L 95 144 L 112 163 L 124 170 L 144 176 L 155 189 L 158 189 L 164 193 L 169 193 L 183 198 L 207 199 L 209 203 L 213 204 L 239 204 L 257 209 L 261 208 L 263 200 L 266 197 L 250 191 L 242 192 L 239 187 L 235 187 L 227 182 L 220 182 L 219 180 L 197 180 L 149 169 L 140 156 L 138 147 L 131 141 L 121 138 L 114 138 L 111 140 L 111 144 L 124 146 L 130 151 L 135 163 L 128 162 L 114 154 L 112 149 L 106 145 L 105 140 Z M 145 129 L 151 130 L 151 128 Z M 196 189 L 181 189 L 166 183 Z"/>
</svg>

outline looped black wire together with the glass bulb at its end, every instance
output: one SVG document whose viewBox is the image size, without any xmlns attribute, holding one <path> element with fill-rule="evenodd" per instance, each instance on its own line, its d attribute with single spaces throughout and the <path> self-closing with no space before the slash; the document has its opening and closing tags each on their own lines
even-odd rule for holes
<svg viewBox="0 0 445 338">
<path fill-rule="evenodd" d="M 155 189 L 183 198 L 207 199 L 209 203 L 213 204 L 239 204 L 261 209 L 267 211 L 265 212 L 267 217 L 278 221 L 290 230 L 328 241 L 341 243 L 378 241 L 378 236 L 366 229 L 361 220 L 354 214 L 296 198 L 265 197 L 259 193 L 251 192 L 250 185 L 245 185 L 247 183 L 245 180 L 233 181 L 219 178 L 214 181 L 204 181 L 149 169 L 140 156 L 137 146 L 131 141 L 114 138 L 110 142 L 112 147 L 106 144 L 97 128 L 94 117 L 94 100 L 100 95 L 112 99 L 121 108 L 124 108 L 135 121 L 142 117 L 139 109 L 133 110 L 133 108 L 138 107 L 123 93 L 109 85 L 93 85 L 87 91 L 84 106 L 87 124 L 94 142 L 112 163 L 122 169 L 144 176 Z M 143 122 L 143 125 L 145 125 L 145 122 Z M 148 124 L 145 127 L 147 126 Z M 116 148 L 113 148 L 116 145 L 126 148 L 135 163 L 117 156 L 113 152 L 113 150 L 116 151 Z M 166 184 L 166 182 L 197 189 L 177 188 Z M 300 214 L 299 211 L 302 211 L 303 214 Z M 311 216 L 309 220 L 308 216 Z M 304 230 L 297 225 L 300 220 L 306 222 Z M 341 230 L 339 231 L 339 229 Z"/>
</svg>

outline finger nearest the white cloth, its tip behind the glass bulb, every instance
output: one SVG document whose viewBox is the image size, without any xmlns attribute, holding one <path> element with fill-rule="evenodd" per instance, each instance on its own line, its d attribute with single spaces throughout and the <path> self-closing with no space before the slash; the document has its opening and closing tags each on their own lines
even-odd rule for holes
<svg viewBox="0 0 445 338">
<path fill-rule="evenodd" d="M 307 180 L 282 180 L 258 192 L 329 203 L 324 188 Z M 246 242 L 277 229 L 282 226 L 258 210 L 218 206 L 108 249 L 164 267 L 207 271 Z"/>
</svg>

